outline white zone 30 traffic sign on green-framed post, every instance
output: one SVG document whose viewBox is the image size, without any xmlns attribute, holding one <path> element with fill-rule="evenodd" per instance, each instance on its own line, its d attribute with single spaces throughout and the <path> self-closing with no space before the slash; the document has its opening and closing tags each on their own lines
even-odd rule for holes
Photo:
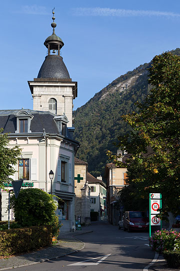
<svg viewBox="0 0 180 271">
<path fill-rule="evenodd" d="M 161 194 L 149 193 L 149 238 L 151 236 L 151 226 L 160 226 L 160 229 L 162 229 L 162 220 L 156 217 L 160 213 L 161 206 Z"/>
</svg>

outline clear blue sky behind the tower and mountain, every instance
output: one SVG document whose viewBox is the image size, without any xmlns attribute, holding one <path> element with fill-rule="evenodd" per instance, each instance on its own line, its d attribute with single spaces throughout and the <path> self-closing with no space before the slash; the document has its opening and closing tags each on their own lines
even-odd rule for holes
<svg viewBox="0 0 180 271">
<path fill-rule="evenodd" d="M 53 7 L 63 61 L 78 82 L 74 109 L 121 74 L 180 47 L 179 0 L 1 1 L 0 109 L 32 108 L 27 80 L 46 56 Z"/>
</svg>

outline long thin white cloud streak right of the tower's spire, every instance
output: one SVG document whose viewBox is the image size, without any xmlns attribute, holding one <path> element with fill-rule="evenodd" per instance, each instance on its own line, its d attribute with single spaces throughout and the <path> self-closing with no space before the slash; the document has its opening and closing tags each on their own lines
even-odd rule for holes
<svg viewBox="0 0 180 271">
<path fill-rule="evenodd" d="M 75 16 L 114 16 L 114 17 L 166 17 L 177 18 L 180 14 L 173 12 L 121 10 L 108 8 L 76 8 L 73 9 Z"/>
</svg>

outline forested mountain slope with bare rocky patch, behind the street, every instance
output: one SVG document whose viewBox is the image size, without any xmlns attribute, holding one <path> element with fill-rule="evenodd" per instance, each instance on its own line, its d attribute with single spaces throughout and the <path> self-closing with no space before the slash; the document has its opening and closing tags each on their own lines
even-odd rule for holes
<svg viewBox="0 0 180 271">
<path fill-rule="evenodd" d="M 180 55 L 178 48 L 171 52 Z M 145 63 L 121 75 L 73 111 L 74 137 L 80 142 L 76 157 L 88 162 L 88 171 L 95 177 L 103 176 L 104 166 L 109 163 L 105 152 L 116 152 L 113 143 L 130 129 L 120 116 L 137 111 L 134 103 L 143 102 L 148 94 L 150 65 Z"/>
</svg>

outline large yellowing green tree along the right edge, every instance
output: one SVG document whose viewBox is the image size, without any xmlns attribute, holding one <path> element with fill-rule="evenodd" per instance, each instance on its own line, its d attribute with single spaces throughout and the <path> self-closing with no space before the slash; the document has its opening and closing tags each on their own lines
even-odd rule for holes
<svg viewBox="0 0 180 271">
<path fill-rule="evenodd" d="M 137 104 L 138 113 L 122 116 L 132 132 L 119 137 L 117 147 L 131 154 L 126 167 L 128 184 L 136 188 L 131 190 L 134 198 L 147 200 L 149 192 L 162 193 L 163 215 L 176 215 L 180 213 L 180 57 L 155 56 L 148 81 L 152 88 L 145 102 Z"/>
</svg>

